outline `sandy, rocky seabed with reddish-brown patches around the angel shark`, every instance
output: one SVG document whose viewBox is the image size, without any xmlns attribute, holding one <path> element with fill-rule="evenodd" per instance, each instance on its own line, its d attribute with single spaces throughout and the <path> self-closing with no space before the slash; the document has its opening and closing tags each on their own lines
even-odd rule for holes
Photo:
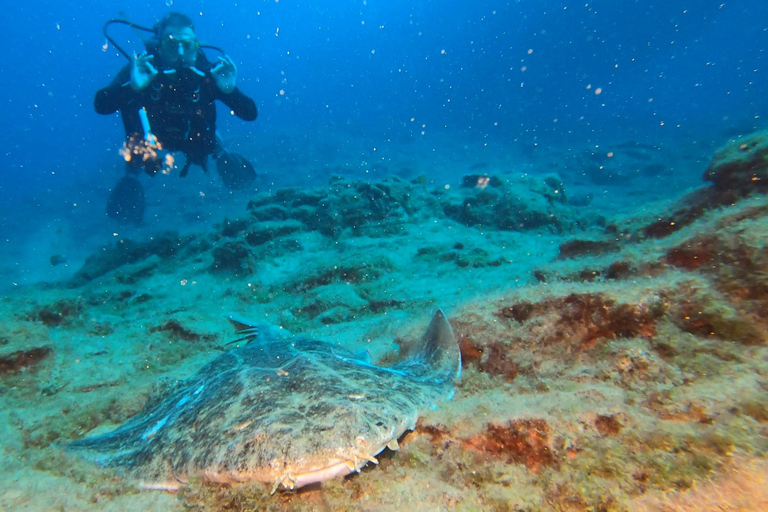
<svg viewBox="0 0 768 512">
<path fill-rule="evenodd" d="M 763 137 L 629 210 L 611 197 L 648 176 L 619 168 L 592 197 L 607 178 L 568 166 L 454 162 L 449 181 L 414 157 L 127 230 L 0 300 L 0 509 L 768 510 Z M 648 174 L 672 165 L 623 148 Z M 164 207 L 178 212 L 151 203 L 150 227 Z M 390 364 L 438 307 L 462 351 L 456 395 L 360 474 L 142 492 L 64 449 L 226 350 L 227 313 Z"/>
</svg>

